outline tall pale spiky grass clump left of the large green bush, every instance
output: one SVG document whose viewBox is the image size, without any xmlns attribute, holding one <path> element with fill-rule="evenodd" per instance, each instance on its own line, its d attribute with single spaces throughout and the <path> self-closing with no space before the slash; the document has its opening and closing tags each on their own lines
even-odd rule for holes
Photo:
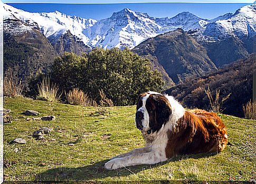
<svg viewBox="0 0 256 184">
<path fill-rule="evenodd" d="M 37 84 L 39 95 L 37 99 L 44 101 L 57 102 L 57 93 L 59 87 L 56 84 L 51 83 L 50 77 L 43 76 L 40 84 Z"/>
</svg>

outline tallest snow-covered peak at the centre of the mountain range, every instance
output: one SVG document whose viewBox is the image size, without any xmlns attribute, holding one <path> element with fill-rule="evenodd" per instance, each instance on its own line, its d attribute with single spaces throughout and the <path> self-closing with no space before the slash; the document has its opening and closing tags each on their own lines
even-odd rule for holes
<svg viewBox="0 0 256 184">
<path fill-rule="evenodd" d="M 161 28 L 147 14 L 125 8 L 98 21 L 84 33 L 90 37 L 92 47 L 133 48 L 141 41 L 157 36 Z"/>
</svg>

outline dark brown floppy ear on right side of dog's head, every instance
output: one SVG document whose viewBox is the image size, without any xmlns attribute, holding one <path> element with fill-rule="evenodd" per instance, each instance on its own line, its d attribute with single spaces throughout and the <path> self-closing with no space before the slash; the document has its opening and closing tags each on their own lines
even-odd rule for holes
<svg viewBox="0 0 256 184">
<path fill-rule="evenodd" d="M 169 100 L 164 95 L 153 95 L 156 106 L 156 120 L 158 128 L 161 128 L 163 124 L 169 120 L 172 114 L 172 107 L 170 106 Z"/>
</svg>

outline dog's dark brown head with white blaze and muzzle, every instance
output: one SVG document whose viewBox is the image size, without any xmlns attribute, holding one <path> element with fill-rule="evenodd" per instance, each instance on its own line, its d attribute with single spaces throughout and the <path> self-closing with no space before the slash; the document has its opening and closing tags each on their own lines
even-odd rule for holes
<svg viewBox="0 0 256 184">
<path fill-rule="evenodd" d="M 149 91 L 140 94 L 135 116 L 136 127 L 147 134 L 158 131 L 169 120 L 172 107 L 166 96 Z"/>
</svg>

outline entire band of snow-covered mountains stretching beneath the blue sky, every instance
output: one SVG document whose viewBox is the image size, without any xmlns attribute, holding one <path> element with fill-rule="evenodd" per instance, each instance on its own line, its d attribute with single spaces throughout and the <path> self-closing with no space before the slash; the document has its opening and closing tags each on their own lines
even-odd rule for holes
<svg viewBox="0 0 256 184">
<path fill-rule="evenodd" d="M 197 37 L 207 42 L 229 35 L 250 36 L 256 30 L 256 5 L 243 6 L 234 14 L 227 13 L 207 20 L 189 12 L 182 12 L 172 18 L 155 18 L 125 8 L 111 17 L 94 19 L 69 16 L 60 12 L 30 13 L 4 4 L 4 19 L 16 18 L 30 26 L 37 26 L 41 33 L 51 40 L 70 33 L 90 47 L 134 48 L 144 40 L 159 34 L 182 28 L 197 30 Z M 24 28 L 23 28 L 24 29 Z"/>
</svg>

